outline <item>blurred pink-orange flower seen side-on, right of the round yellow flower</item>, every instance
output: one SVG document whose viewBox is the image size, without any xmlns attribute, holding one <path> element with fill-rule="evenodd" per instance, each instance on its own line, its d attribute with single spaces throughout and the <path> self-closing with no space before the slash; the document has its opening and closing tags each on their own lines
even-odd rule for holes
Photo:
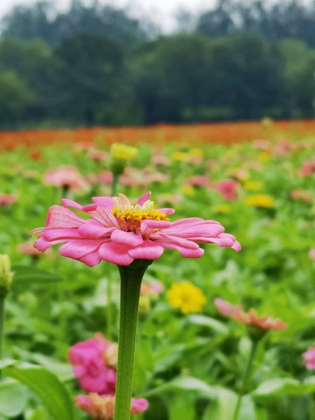
<svg viewBox="0 0 315 420">
<path fill-rule="evenodd" d="M 258 318 L 256 311 L 251 308 L 249 313 L 243 311 L 241 305 L 233 306 L 223 299 L 215 299 L 215 305 L 222 315 L 231 317 L 240 323 L 252 325 L 261 329 L 285 329 L 286 323 L 271 317 Z"/>
</svg>

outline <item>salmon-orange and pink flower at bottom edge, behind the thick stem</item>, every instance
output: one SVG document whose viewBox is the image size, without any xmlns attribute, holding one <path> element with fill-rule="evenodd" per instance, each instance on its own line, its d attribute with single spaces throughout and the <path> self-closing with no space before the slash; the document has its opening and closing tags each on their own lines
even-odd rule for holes
<svg viewBox="0 0 315 420">
<path fill-rule="evenodd" d="M 75 397 L 75 405 L 97 420 L 114 419 L 115 397 L 111 395 L 78 395 Z M 131 398 L 130 415 L 139 414 L 145 411 L 149 403 L 144 398 Z"/>
</svg>

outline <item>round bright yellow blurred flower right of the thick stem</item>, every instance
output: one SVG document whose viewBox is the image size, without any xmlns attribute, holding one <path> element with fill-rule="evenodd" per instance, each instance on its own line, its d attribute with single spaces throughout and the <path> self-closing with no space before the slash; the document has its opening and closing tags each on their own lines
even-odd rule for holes
<svg viewBox="0 0 315 420">
<path fill-rule="evenodd" d="M 206 303 L 202 290 L 188 281 L 173 283 L 167 292 L 167 299 L 170 306 L 179 308 L 183 314 L 200 312 Z"/>
</svg>

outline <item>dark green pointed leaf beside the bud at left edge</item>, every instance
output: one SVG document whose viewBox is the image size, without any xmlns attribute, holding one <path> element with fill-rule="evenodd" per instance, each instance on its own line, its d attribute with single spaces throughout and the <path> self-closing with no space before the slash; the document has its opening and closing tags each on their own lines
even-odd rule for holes
<svg viewBox="0 0 315 420">
<path fill-rule="evenodd" d="M 36 284 L 56 283 L 62 281 L 58 274 L 51 273 L 32 265 L 13 265 L 13 287 Z"/>
</svg>

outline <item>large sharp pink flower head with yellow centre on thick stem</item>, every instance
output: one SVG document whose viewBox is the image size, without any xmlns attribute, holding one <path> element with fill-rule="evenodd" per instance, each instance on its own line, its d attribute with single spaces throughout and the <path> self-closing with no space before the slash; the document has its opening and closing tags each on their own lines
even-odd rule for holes
<svg viewBox="0 0 315 420">
<path fill-rule="evenodd" d="M 87 206 L 63 199 L 64 207 L 50 207 L 45 227 L 30 233 L 39 233 L 35 247 L 43 252 L 51 245 L 64 243 L 61 255 L 90 266 L 102 259 L 118 265 L 129 265 L 134 259 L 158 259 L 164 248 L 177 249 L 185 258 L 199 258 L 204 254 L 198 245 L 202 243 L 241 249 L 235 236 L 224 233 L 224 227 L 214 220 L 192 217 L 168 221 L 166 216 L 175 210 L 153 210 L 150 194 L 142 195 L 134 206 L 124 194 L 94 197 L 94 204 Z M 91 219 L 78 216 L 67 206 Z"/>
</svg>

